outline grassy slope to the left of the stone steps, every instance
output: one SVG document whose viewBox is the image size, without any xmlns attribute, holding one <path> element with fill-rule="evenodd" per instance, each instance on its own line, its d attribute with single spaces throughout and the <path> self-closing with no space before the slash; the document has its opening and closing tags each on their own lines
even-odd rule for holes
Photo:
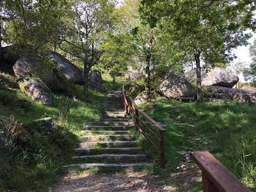
<svg viewBox="0 0 256 192">
<path fill-rule="evenodd" d="M 120 86 L 118 83 L 111 83 L 107 75 L 104 77 L 107 88 Z M 22 145 L 15 151 L 0 148 L 0 191 L 10 188 L 20 191 L 45 191 L 47 186 L 56 182 L 56 173 L 62 172 L 61 166 L 72 155 L 72 149 L 84 122 L 102 117 L 99 98 L 104 97 L 106 93 L 90 90 L 89 95 L 84 97 L 82 86 L 75 86 L 75 90 L 76 95 L 85 102 L 53 95 L 52 107 L 35 102 L 21 92 L 1 91 L 7 101 L 4 104 L 0 100 L 0 116 L 9 118 L 10 115 L 14 115 L 21 123 L 50 116 L 56 124 L 61 125 L 61 134 L 54 137 L 49 132 L 40 131 L 40 127 L 30 127 L 27 128 L 31 134 L 28 145 Z M 29 100 L 32 103 L 31 109 L 19 108 L 15 101 L 17 99 Z M 70 110 L 65 120 L 60 118 L 60 111 L 67 105 L 70 106 Z M 58 150 L 60 154 L 56 153 Z"/>
</svg>

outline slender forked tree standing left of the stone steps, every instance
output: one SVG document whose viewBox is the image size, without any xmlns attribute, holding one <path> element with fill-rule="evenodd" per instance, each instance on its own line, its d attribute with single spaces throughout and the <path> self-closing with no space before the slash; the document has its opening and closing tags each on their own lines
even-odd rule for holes
<svg viewBox="0 0 256 192">
<path fill-rule="evenodd" d="M 89 72 L 103 54 L 99 46 L 111 31 L 114 8 L 115 3 L 108 0 L 72 1 L 73 15 L 60 49 L 83 61 L 84 95 L 88 94 Z"/>
</svg>

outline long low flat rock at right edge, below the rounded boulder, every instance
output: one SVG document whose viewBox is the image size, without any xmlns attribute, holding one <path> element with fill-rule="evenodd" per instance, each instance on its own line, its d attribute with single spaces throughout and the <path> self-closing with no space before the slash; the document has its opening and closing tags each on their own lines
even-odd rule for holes
<svg viewBox="0 0 256 192">
<path fill-rule="evenodd" d="M 216 99 L 237 99 L 240 102 L 256 106 L 256 92 L 239 90 L 221 86 L 206 86 L 208 97 Z"/>
</svg>

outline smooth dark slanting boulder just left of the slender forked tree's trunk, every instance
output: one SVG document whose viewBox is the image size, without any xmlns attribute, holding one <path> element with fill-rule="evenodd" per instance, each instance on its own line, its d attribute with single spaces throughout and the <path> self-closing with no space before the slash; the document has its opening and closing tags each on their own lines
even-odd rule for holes
<svg viewBox="0 0 256 192">
<path fill-rule="evenodd" d="M 83 84 L 83 70 L 76 67 L 58 52 L 51 51 L 51 58 L 58 63 L 57 68 L 72 83 Z"/>
</svg>

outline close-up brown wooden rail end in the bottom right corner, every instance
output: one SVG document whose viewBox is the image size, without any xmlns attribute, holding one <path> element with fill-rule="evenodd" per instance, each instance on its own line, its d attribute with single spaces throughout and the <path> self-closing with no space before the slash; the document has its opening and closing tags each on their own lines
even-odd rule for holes
<svg viewBox="0 0 256 192">
<path fill-rule="evenodd" d="M 209 152 L 198 151 L 190 154 L 190 157 L 202 170 L 202 182 L 204 192 L 249 192 L 232 173 L 228 171 Z"/>
</svg>

